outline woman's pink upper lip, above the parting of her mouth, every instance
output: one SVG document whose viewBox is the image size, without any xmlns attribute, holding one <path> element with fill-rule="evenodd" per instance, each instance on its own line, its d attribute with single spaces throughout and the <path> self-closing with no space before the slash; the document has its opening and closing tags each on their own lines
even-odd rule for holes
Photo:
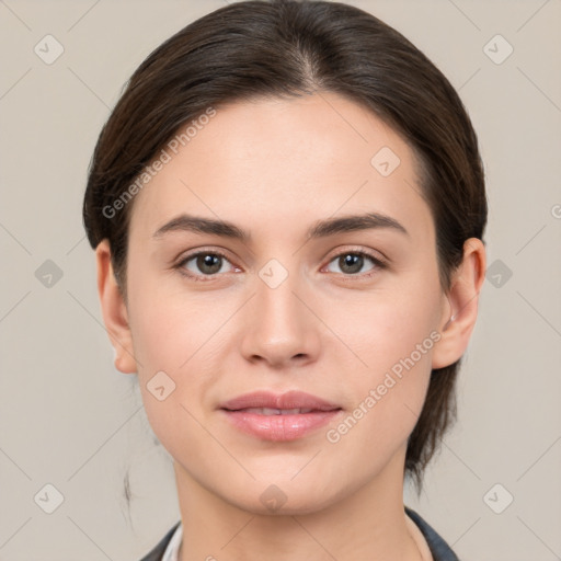
<svg viewBox="0 0 561 561">
<path fill-rule="evenodd" d="M 341 409 L 340 405 L 330 403 L 317 396 L 304 391 L 287 391 L 286 393 L 274 393 L 272 391 L 254 391 L 238 396 L 220 404 L 220 409 L 239 411 L 248 408 L 268 409 L 312 409 L 318 411 L 332 411 Z"/>
</svg>

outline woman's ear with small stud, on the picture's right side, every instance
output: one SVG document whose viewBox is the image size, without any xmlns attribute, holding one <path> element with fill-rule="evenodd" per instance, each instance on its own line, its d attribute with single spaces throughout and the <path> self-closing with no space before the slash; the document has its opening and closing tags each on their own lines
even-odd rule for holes
<svg viewBox="0 0 561 561">
<path fill-rule="evenodd" d="M 433 368 L 458 360 L 468 347 L 478 317 L 479 293 L 485 278 L 485 248 L 478 238 L 463 243 L 463 259 L 454 272 L 449 291 L 444 295 L 440 340 L 434 346 Z"/>
</svg>

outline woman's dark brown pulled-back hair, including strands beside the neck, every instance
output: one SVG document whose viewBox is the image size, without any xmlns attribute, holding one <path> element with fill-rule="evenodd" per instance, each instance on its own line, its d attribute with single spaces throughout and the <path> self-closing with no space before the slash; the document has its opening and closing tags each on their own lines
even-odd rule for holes
<svg viewBox="0 0 561 561">
<path fill-rule="evenodd" d="M 92 248 L 107 238 L 126 299 L 134 201 L 114 202 L 181 126 L 241 100 L 339 93 L 385 121 L 411 146 L 436 229 L 444 290 L 468 238 L 486 222 L 478 140 L 458 94 L 403 35 L 374 15 L 325 1 L 237 2 L 191 23 L 140 65 L 103 127 L 90 164 L 83 221 Z M 112 208 L 112 213 L 107 213 Z M 459 360 L 434 369 L 410 435 L 405 474 L 424 468 L 456 419 Z"/>
</svg>

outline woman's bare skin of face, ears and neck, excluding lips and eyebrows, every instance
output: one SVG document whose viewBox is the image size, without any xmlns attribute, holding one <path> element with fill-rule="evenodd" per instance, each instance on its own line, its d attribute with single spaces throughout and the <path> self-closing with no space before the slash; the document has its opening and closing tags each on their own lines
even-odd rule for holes
<svg viewBox="0 0 561 561">
<path fill-rule="evenodd" d="M 382 147 L 401 160 L 386 178 L 370 164 Z M 420 191 L 409 146 L 344 98 L 236 103 L 136 195 L 126 302 L 107 241 L 99 244 L 115 366 L 137 374 L 151 426 L 174 459 L 182 561 L 421 559 L 403 511 L 407 439 L 431 368 L 454 363 L 468 345 L 485 253 L 480 240 L 467 240 L 445 294 Z M 305 237 L 317 220 L 365 211 L 394 218 L 409 234 Z M 252 241 L 152 237 L 181 213 L 231 221 Z M 196 282 L 176 266 L 194 250 L 228 259 L 210 280 L 196 260 L 184 263 L 203 277 Z M 359 250 L 386 256 L 387 267 L 365 257 L 351 274 L 336 257 Z M 259 276 L 271 259 L 288 272 L 276 288 Z M 241 433 L 217 411 L 250 391 L 299 389 L 337 403 L 346 417 L 431 332 L 439 341 L 337 443 L 325 433 L 341 417 L 277 443 Z M 163 401 L 147 389 L 160 370 L 176 385 Z M 275 512 L 260 500 L 271 484 L 286 496 Z"/>
</svg>

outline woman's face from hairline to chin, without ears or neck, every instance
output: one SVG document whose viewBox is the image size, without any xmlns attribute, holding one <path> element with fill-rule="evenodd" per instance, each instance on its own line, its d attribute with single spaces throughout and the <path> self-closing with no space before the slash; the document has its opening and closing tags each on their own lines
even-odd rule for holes
<svg viewBox="0 0 561 561">
<path fill-rule="evenodd" d="M 401 481 L 450 313 L 412 151 L 328 93 L 232 104 L 199 128 L 167 148 L 129 230 L 133 368 L 176 473 L 252 512 Z M 334 409 L 222 409 L 255 391 Z"/>
</svg>

